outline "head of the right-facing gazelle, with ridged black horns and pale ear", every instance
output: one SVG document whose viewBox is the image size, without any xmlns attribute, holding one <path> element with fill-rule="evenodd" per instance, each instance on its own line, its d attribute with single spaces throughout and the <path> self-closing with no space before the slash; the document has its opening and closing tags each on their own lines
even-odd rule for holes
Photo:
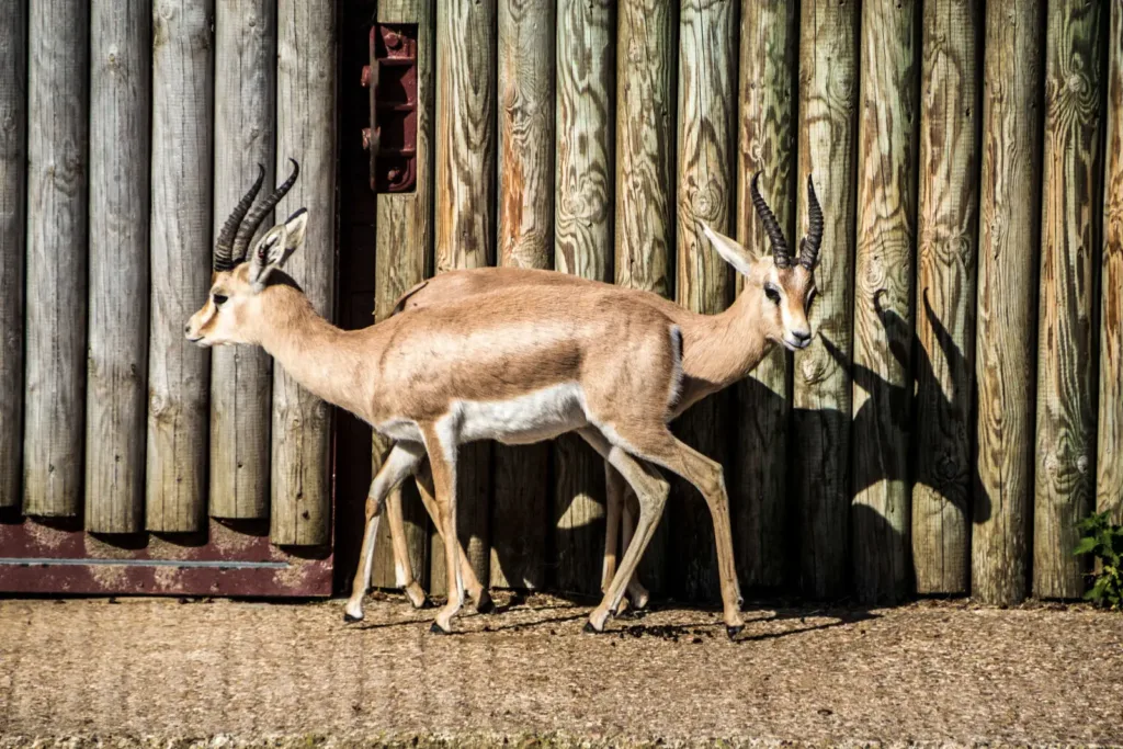
<svg viewBox="0 0 1123 749">
<path fill-rule="evenodd" d="M 823 212 L 807 175 L 807 234 L 800 241 L 800 256 L 793 257 L 776 216 L 757 189 L 759 176 L 759 172 L 752 175 L 749 193 L 772 244 L 772 257 L 758 257 L 730 237 L 703 228 L 718 254 L 745 276 L 742 294 L 748 296 L 743 303 L 756 305 L 765 337 L 794 351 L 811 344 L 807 310 L 819 293 L 814 272 L 823 238 Z"/>
</svg>

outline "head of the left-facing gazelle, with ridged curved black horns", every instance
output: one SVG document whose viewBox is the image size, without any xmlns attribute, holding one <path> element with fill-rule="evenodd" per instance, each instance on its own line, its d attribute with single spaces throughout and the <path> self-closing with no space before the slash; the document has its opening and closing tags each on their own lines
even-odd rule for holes
<svg viewBox="0 0 1123 749">
<path fill-rule="evenodd" d="M 191 342 L 204 347 L 258 342 L 256 326 L 257 321 L 267 319 L 263 314 L 262 304 L 268 298 L 270 286 L 279 283 L 294 285 L 279 268 L 304 241 L 308 212 L 303 208 L 266 231 L 248 253 L 248 257 L 246 252 L 254 232 L 300 174 L 300 165 L 293 159 L 289 161 L 292 162 L 289 179 L 249 211 L 265 179 L 265 168 L 258 165 L 257 181 L 222 225 L 214 243 L 213 272 L 207 302 L 191 316 L 184 329 Z"/>
</svg>

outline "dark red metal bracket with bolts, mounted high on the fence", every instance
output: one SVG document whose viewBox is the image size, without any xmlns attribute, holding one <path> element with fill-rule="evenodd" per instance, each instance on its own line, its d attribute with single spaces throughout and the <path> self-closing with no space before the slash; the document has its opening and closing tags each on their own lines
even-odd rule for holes
<svg viewBox="0 0 1123 749">
<path fill-rule="evenodd" d="M 371 153 L 371 189 L 412 192 L 418 145 L 417 24 L 374 25 L 363 85 L 371 92 L 371 127 L 363 130 L 363 147 Z"/>
</svg>

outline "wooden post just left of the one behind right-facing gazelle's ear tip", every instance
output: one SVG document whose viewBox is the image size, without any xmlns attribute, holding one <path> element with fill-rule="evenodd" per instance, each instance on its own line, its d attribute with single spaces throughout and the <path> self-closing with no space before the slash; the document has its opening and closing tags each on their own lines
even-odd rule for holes
<svg viewBox="0 0 1123 749">
<path fill-rule="evenodd" d="M 618 12 L 615 282 L 669 298 L 677 13 L 665 0 L 622 0 Z M 664 590 L 667 527 L 656 527 L 640 560 L 639 575 L 652 593 Z"/>
</svg>

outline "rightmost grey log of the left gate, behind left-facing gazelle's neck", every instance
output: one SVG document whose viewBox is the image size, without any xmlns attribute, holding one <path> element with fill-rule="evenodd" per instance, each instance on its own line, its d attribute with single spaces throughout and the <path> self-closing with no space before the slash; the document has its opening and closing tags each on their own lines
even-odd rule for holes
<svg viewBox="0 0 1123 749">
<path fill-rule="evenodd" d="M 309 213 L 300 252 L 285 271 L 316 310 L 335 313 L 336 6 L 331 0 L 277 2 L 277 162 L 300 162 L 300 179 L 276 216 Z M 270 540 L 321 546 L 331 539 L 331 409 L 273 369 L 273 462 Z"/>
</svg>

